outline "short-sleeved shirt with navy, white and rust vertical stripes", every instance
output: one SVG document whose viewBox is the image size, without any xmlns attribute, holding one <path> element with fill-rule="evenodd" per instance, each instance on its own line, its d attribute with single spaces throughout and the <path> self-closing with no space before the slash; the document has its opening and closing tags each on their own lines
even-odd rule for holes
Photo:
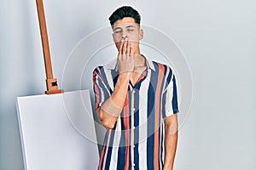
<svg viewBox="0 0 256 170">
<path fill-rule="evenodd" d="M 131 83 L 123 110 L 107 129 L 98 169 L 162 169 L 165 154 L 163 120 L 178 112 L 172 69 L 146 59 L 147 68 Z M 119 77 L 116 62 L 93 71 L 96 109 L 110 97 Z"/>
</svg>

